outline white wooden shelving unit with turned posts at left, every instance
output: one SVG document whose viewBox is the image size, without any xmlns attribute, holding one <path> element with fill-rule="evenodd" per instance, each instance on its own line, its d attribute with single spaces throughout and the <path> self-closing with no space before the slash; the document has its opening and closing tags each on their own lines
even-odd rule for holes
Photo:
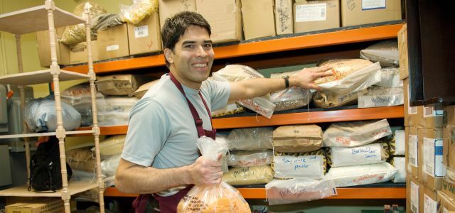
<svg viewBox="0 0 455 213">
<path fill-rule="evenodd" d="M 7 190 L 1 190 L 0 196 L 15 196 L 15 197 L 61 197 L 65 205 L 65 212 L 70 212 L 70 197 L 79 192 L 98 188 L 98 199 L 100 201 L 100 212 L 105 212 L 105 204 L 103 200 L 104 182 L 101 176 L 100 168 L 100 128 L 97 121 L 97 107 L 95 104 L 95 80 L 96 75 L 93 71 L 92 62 L 92 47 L 90 38 L 90 16 L 88 9 L 85 9 L 87 20 L 83 20 L 72 13 L 63 11 L 55 7 L 53 0 L 46 0 L 42 6 L 36 6 L 29 9 L 14 11 L 11 13 L 0 14 L 0 31 L 12 33 L 16 35 L 16 46 L 18 56 L 18 74 L 7 75 L 0 77 L 0 84 L 18 85 L 21 92 L 22 111 L 25 103 L 25 95 L 23 91 L 24 85 L 53 83 L 55 96 L 55 111 L 57 113 L 57 129 L 55 132 L 49 133 L 27 133 L 27 127 L 23 126 L 22 134 L 0 136 L 1 138 L 24 138 L 26 148 L 27 161 L 27 177 L 30 178 L 30 148 L 27 138 L 36 136 L 57 136 L 60 150 L 60 165 L 63 188 L 56 192 L 34 192 L 28 191 L 29 182 L 27 185 L 20 187 L 12 187 Z M 69 72 L 60 70 L 57 64 L 57 53 L 55 49 L 55 28 L 62 26 L 70 26 L 79 23 L 85 23 L 87 50 L 88 50 L 88 70 L 87 75 L 77 72 Z M 23 72 L 22 56 L 21 56 L 21 35 L 33 33 L 36 31 L 49 31 L 50 39 L 50 56 L 51 65 L 47 70 L 39 70 L 34 72 Z M 63 127 L 62 108 L 60 102 L 60 81 L 88 79 L 90 81 L 90 91 L 92 94 L 92 115 L 93 127 L 91 130 L 84 131 L 65 131 Z M 68 182 L 66 170 L 65 156 L 65 137 L 70 134 L 92 133 L 95 137 L 95 158 L 97 182 Z"/>
</svg>

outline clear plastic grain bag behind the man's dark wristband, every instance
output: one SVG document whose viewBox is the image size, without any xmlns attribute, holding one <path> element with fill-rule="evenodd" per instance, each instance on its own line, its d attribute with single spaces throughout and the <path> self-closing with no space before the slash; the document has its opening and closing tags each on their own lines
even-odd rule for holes
<svg viewBox="0 0 455 213">
<path fill-rule="evenodd" d="M 300 70 L 293 72 L 272 73 L 270 78 L 282 78 L 285 76 L 293 76 L 299 73 Z M 272 92 L 270 100 L 277 106 L 275 111 L 284 111 L 288 109 L 297 109 L 309 104 L 313 94 L 309 89 L 301 87 L 290 87 L 281 91 Z"/>
</svg>

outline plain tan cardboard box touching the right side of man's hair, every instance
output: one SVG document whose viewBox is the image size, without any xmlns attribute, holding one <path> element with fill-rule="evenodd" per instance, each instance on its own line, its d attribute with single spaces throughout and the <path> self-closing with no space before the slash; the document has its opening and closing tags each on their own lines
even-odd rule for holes
<svg viewBox="0 0 455 213">
<path fill-rule="evenodd" d="M 240 0 L 196 0 L 196 11 L 210 23 L 213 43 L 242 40 Z"/>
</svg>

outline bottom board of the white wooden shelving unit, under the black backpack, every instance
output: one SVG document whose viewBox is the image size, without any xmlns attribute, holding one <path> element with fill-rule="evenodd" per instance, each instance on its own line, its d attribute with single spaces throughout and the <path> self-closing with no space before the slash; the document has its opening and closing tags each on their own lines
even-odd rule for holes
<svg viewBox="0 0 455 213">
<path fill-rule="evenodd" d="M 93 188 L 98 187 L 95 182 L 70 182 L 68 184 L 68 191 L 71 195 L 75 195 L 80 192 L 84 192 Z M 12 187 L 7 190 L 1 190 L 0 196 L 5 197 L 61 197 L 62 190 L 56 192 L 28 192 L 28 186 L 22 185 L 18 187 Z"/>
</svg>

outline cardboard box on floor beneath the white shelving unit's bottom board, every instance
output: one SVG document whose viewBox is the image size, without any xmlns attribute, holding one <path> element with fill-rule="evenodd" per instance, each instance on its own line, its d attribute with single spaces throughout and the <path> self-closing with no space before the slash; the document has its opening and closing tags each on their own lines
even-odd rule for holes
<svg viewBox="0 0 455 213">
<path fill-rule="evenodd" d="M 31 202 L 17 202 L 5 207 L 6 213 L 65 212 L 63 200 L 58 198 L 38 198 Z"/>
</svg>

